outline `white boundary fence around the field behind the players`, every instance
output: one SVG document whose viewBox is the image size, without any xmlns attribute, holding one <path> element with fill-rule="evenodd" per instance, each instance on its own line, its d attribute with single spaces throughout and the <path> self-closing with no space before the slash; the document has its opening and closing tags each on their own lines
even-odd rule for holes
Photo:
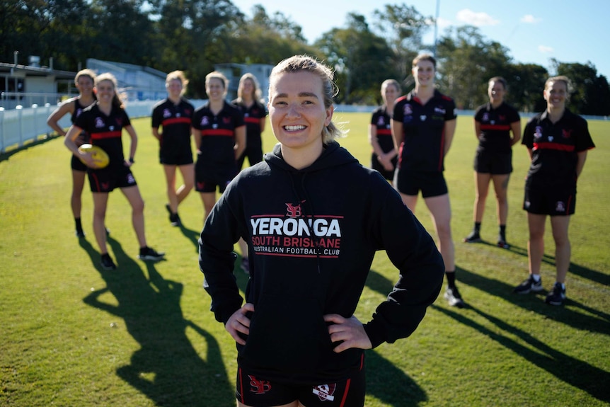
<svg viewBox="0 0 610 407">
<path fill-rule="evenodd" d="M 195 108 L 203 105 L 205 100 L 190 101 Z M 156 101 L 132 101 L 125 104 L 127 115 L 131 118 L 148 117 Z M 21 147 L 27 142 L 33 142 L 40 137 L 48 137 L 52 129 L 47 125 L 47 118 L 57 108 L 57 105 L 46 103 L 44 106 L 33 105 L 31 108 L 4 110 L 0 108 L 0 153 L 8 147 Z M 335 113 L 362 112 L 370 113 L 374 106 L 337 105 Z M 457 110 L 458 115 L 474 114 L 473 110 Z M 531 117 L 533 113 L 522 113 L 523 117 Z M 609 117 L 585 116 L 587 120 L 609 120 Z M 71 125 L 69 115 L 59 120 L 59 125 L 67 128 Z"/>
</svg>

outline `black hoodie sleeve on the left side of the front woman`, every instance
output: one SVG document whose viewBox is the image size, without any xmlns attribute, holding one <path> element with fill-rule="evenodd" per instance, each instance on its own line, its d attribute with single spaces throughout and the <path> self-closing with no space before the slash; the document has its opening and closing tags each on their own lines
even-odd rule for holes
<svg viewBox="0 0 610 407">
<path fill-rule="evenodd" d="M 238 220 L 231 210 L 230 187 L 214 205 L 199 239 L 199 267 L 205 275 L 204 288 L 212 297 L 210 310 L 217 321 L 226 323 L 243 303 L 233 274 L 239 239 Z M 235 193 L 236 195 L 236 193 Z"/>
</svg>

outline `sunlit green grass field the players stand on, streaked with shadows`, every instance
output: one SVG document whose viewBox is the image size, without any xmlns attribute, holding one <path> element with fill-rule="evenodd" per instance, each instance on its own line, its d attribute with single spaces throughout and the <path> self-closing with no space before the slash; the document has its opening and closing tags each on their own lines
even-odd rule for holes
<svg viewBox="0 0 610 407">
<path fill-rule="evenodd" d="M 369 163 L 368 114 L 335 113 L 350 132 L 340 142 Z M 118 270 L 98 266 L 91 194 L 83 195 L 86 239 L 76 239 L 69 209 L 69 152 L 50 139 L 0 160 L 0 406 L 234 406 L 236 350 L 209 311 L 197 264 L 202 203 L 180 206 L 170 227 L 165 179 L 149 119 L 134 120 L 133 167 L 146 201 L 149 244 L 161 263 L 136 259 L 130 209 L 110 196 L 109 247 Z M 568 302 L 516 296 L 526 277 L 527 225 L 521 209 L 526 149 L 514 147 L 507 239 L 495 246 L 490 190 L 482 236 L 472 226 L 472 118 L 461 116 L 445 172 L 453 211 L 456 265 L 466 309 L 439 297 L 415 333 L 367 351 L 366 406 L 608 406 L 610 403 L 610 123 L 589 122 L 590 151 L 570 224 Z M 124 137 L 127 139 L 128 137 Z M 269 151 L 274 139 L 265 132 Z M 88 188 L 88 185 L 86 185 Z M 420 200 L 415 214 L 432 232 Z M 543 284 L 553 283 L 548 225 Z M 240 287 L 246 276 L 236 271 Z M 357 309 L 368 320 L 397 278 L 385 253 L 374 260 Z M 287 338 L 289 340 L 289 338 Z"/>
</svg>

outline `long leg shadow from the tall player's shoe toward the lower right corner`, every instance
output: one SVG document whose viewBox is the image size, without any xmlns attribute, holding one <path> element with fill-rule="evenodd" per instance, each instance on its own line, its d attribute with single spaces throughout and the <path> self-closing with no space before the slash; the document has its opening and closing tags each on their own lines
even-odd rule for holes
<svg viewBox="0 0 610 407">
<path fill-rule="evenodd" d="M 495 326 L 500 328 L 508 335 L 516 336 L 525 343 L 528 343 L 531 345 L 531 348 L 517 343 L 515 340 L 512 340 L 503 333 L 497 333 L 483 325 L 480 325 L 480 323 L 477 323 L 467 316 L 464 316 L 464 314 L 460 314 L 459 311 L 456 312 L 450 309 L 445 309 L 444 307 L 437 306 L 435 304 L 432 304 L 431 307 L 442 314 L 455 319 L 459 323 L 463 323 L 466 326 L 476 329 L 484 336 L 488 336 L 497 343 L 500 343 L 500 345 L 512 350 L 514 353 L 523 357 L 534 365 L 540 367 L 541 369 L 545 369 L 548 373 L 553 374 L 553 376 L 569 384 L 570 386 L 575 386 L 582 389 L 582 391 L 586 391 L 588 394 L 601 401 L 610 401 L 610 392 L 607 388 L 608 383 L 610 383 L 609 372 L 589 365 L 587 362 L 582 362 L 582 360 L 577 360 L 574 357 L 565 355 L 564 353 L 551 348 L 546 343 L 534 338 L 529 333 L 524 332 L 521 329 L 506 323 L 505 321 L 502 321 L 502 319 L 498 319 L 495 316 L 491 316 L 490 314 L 486 314 L 479 309 L 473 308 L 473 306 L 470 306 L 469 308 L 476 312 L 476 314 L 495 324 Z"/>
</svg>

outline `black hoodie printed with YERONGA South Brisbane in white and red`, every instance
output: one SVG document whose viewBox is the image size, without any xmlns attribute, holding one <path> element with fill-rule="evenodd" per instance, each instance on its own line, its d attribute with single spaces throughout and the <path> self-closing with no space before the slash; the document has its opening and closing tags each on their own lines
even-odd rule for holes
<svg viewBox="0 0 610 407">
<path fill-rule="evenodd" d="M 373 347 L 413 333 L 442 285 L 444 265 L 430 235 L 378 172 L 336 142 L 301 170 L 277 144 L 214 206 L 200 268 L 222 323 L 243 303 L 233 275 L 240 237 L 250 260 L 246 302 L 255 311 L 238 363 L 265 379 L 320 383 L 359 369 L 363 350 L 333 352 L 323 315 L 354 314 L 376 251 L 385 249 L 400 275 L 364 324 Z"/>
</svg>

